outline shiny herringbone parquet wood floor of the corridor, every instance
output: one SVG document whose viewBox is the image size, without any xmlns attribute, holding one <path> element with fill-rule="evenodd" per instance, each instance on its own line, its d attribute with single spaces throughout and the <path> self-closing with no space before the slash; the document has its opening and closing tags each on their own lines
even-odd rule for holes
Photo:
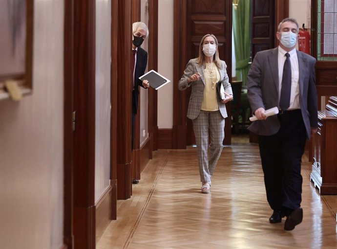
<svg viewBox="0 0 337 249">
<path fill-rule="evenodd" d="M 303 222 L 293 231 L 270 224 L 258 146 L 225 147 L 201 194 L 196 149 L 159 150 L 118 201 L 98 249 L 336 249 L 337 196 L 320 196 L 303 157 Z"/>
</svg>

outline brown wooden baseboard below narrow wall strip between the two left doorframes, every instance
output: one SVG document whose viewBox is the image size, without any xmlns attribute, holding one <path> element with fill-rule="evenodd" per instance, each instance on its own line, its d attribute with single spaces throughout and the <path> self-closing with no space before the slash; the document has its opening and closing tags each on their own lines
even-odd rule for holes
<svg viewBox="0 0 337 249">
<path fill-rule="evenodd" d="M 96 243 L 111 221 L 112 197 L 112 186 L 110 184 L 96 204 Z"/>
</svg>

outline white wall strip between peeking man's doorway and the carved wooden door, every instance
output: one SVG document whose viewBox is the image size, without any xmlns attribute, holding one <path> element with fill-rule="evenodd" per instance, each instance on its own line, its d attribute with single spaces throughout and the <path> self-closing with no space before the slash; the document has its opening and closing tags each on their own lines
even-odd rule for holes
<svg viewBox="0 0 337 249">
<path fill-rule="evenodd" d="M 158 128 L 173 127 L 173 0 L 158 1 L 158 72 L 171 80 L 158 90 Z M 183 42 L 183 41 L 182 41 Z"/>
</svg>

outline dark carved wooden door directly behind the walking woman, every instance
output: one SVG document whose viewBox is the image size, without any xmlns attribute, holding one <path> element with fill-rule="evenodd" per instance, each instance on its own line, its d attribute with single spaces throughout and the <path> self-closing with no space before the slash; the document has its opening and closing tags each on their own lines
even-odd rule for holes
<svg viewBox="0 0 337 249">
<path fill-rule="evenodd" d="M 219 42 L 219 57 L 226 61 L 231 72 L 232 58 L 232 1 L 223 0 L 175 0 L 174 34 L 174 93 L 173 93 L 173 148 L 186 148 L 195 144 L 193 126 L 186 117 L 190 89 L 179 92 L 178 81 L 186 64 L 198 56 L 201 38 L 214 34 Z M 231 76 L 230 76 L 231 79 Z M 227 110 L 230 113 L 230 104 Z M 226 118 L 225 144 L 231 143 L 231 119 Z"/>
</svg>

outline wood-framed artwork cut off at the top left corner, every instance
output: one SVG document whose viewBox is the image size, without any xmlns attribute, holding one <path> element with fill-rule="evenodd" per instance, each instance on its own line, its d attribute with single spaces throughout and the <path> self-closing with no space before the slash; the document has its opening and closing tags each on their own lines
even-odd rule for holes
<svg viewBox="0 0 337 249">
<path fill-rule="evenodd" d="M 33 0 L 0 0 L 0 99 L 32 92 L 32 52 Z"/>
</svg>

